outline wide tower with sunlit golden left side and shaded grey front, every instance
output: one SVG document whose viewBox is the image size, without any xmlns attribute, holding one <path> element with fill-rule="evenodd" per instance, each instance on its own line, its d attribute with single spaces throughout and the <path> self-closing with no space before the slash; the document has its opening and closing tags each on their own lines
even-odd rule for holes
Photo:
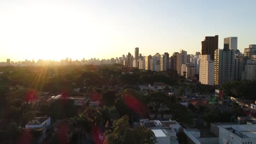
<svg viewBox="0 0 256 144">
<path fill-rule="evenodd" d="M 229 50 L 225 44 L 224 49 L 214 53 L 214 85 L 222 85 L 225 81 L 235 79 L 235 51 Z"/>
</svg>

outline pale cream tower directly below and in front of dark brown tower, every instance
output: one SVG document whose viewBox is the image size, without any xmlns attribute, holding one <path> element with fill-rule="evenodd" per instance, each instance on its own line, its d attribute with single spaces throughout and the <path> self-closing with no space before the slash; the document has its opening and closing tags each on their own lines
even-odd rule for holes
<svg viewBox="0 0 256 144">
<path fill-rule="evenodd" d="M 214 85 L 214 62 L 210 55 L 200 56 L 199 81 L 205 85 Z"/>
</svg>

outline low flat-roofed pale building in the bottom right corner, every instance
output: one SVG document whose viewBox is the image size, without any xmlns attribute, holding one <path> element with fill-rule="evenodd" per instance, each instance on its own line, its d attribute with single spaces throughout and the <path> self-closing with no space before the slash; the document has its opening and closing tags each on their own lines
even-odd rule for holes
<svg viewBox="0 0 256 144">
<path fill-rule="evenodd" d="M 256 143 L 256 124 L 233 124 L 219 126 L 219 144 Z"/>
</svg>

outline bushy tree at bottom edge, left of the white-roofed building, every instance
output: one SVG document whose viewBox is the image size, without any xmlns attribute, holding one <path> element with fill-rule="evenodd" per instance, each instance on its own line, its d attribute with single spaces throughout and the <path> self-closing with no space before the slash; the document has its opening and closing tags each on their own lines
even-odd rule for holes
<svg viewBox="0 0 256 144">
<path fill-rule="evenodd" d="M 123 116 L 120 119 L 114 121 L 113 130 L 107 130 L 104 133 L 106 139 L 103 143 L 115 144 L 115 143 L 156 143 L 156 137 L 148 128 L 137 127 L 131 129 L 129 127 L 129 117 Z"/>
</svg>

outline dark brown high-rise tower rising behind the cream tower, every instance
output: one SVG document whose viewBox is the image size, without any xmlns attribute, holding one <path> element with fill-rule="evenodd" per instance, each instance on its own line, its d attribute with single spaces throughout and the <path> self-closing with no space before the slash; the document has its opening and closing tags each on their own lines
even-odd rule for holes
<svg viewBox="0 0 256 144">
<path fill-rule="evenodd" d="M 202 41 L 202 55 L 210 55 L 212 61 L 214 61 L 214 51 L 218 49 L 219 36 L 205 37 Z"/>
</svg>

